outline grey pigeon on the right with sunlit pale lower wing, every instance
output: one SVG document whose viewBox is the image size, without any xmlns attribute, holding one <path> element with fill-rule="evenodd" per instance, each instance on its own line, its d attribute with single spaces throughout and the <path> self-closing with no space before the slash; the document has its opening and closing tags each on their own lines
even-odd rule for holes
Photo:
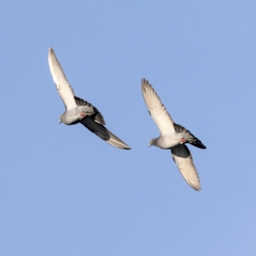
<svg viewBox="0 0 256 256">
<path fill-rule="evenodd" d="M 146 79 L 142 79 L 141 89 L 148 112 L 160 131 L 160 136 L 150 140 L 148 147 L 154 145 L 163 149 L 171 149 L 173 160 L 186 182 L 193 189 L 200 191 L 200 180 L 191 153 L 185 143 L 198 148 L 206 148 L 205 145 L 186 128 L 173 122 L 154 88 Z"/>
</svg>

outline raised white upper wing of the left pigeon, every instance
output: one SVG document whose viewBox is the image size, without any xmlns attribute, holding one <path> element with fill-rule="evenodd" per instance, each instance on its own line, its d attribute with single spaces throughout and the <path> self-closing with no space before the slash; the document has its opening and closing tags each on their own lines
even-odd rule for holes
<svg viewBox="0 0 256 256">
<path fill-rule="evenodd" d="M 77 104 L 74 99 L 74 91 L 61 68 L 60 62 L 56 58 L 54 51 L 50 48 L 48 54 L 48 62 L 51 70 L 52 78 L 56 84 L 58 93 L 63 100 L 67 110 L 76 108 Z"/>
</svg>

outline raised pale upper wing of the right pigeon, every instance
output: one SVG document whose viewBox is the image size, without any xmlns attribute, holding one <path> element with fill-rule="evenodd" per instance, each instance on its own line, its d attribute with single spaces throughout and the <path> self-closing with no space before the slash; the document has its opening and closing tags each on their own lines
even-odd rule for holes
<svg viewBox="0 0 256 256">
<path fill-rule="evenodd" d="M 141 89 L 148 111 L 156 123 L 160 133 L 166 134 L 175 132 L 172 117 L 167 112 L 154 88 L 146 79 L 142 79 Z"/>
</svg>

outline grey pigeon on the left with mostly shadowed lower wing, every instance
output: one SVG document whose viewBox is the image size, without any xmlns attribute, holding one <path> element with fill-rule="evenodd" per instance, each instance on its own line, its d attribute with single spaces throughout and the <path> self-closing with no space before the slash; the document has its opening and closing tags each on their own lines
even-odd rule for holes
<svg viewBox="0 0 256 256">
<path fill-rule="evenodd" d="M 124 141 L 104 127 L 106 123 L 97 108 L 74 95 L 74 91 L 51 48 L 49 49 L 48 62 L 53 81 L 66 108 L 66 111 L 60 116 L 60 124 L 62 122 L 67 125 L 81 123 L 109 144 L 117 148 L 131 149 Z"/>
</svg>

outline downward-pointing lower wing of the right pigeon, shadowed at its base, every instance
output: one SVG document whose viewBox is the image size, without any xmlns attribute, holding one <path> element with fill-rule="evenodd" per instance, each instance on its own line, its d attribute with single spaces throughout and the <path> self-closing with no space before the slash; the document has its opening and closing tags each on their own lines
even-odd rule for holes
<svg viewBox="0 0 256 256">
<path fill-rule="evenodd" d="M 171 148 L 171 151 L 173 160 L 177 164 L 186 182 L 188 182 L 193 189 L 200 191 L 200 180 L 188 147 L 184 144 L 177 145 Z"/>
</svg>

